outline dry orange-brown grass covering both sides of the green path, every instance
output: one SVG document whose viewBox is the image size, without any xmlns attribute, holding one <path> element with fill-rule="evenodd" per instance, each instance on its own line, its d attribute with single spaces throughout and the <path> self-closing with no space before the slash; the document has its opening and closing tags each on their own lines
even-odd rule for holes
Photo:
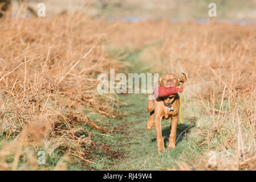
<svg viewBox="0 0 256 182">
<path fill-rule="evenodd" d="M 105 23 L 82 15 L 0 24 L 1 169 L 29 169 L 29 164 L 37 169 L 31 146 L 42 145 L 49 154 L 66 147 L 65 159 L 72 155 L 90 163 L 81 147 L 92 140 L 90 135 L 77 137 L 82 127 L 74 123 L 107 133 L 82 114 L 87 105 L 112 116 L 117 100 L 96 92 L 97 73 L 120 67 L 105 52 L 105 38 L 111 40 L 109 46 L 141 49 L 141 58 L 154 72 L 187 74 L 183 116 L 197 120 L 189 137 L 208 145 L 191 166 L 255 169 L 255 25 Z M 7 142 L 9 138 L 15 140 Z M 212 147 L 218 154 L 214 166 L 207 156 Z M 6 162 L 10 154 L 13 163 Z M 27 160 L 18 167 L 21 156 Z M 60 162 L 58 169 L 62 166 Z M 178 166 L 189 169 L 185 163 Z"/>
</svg>

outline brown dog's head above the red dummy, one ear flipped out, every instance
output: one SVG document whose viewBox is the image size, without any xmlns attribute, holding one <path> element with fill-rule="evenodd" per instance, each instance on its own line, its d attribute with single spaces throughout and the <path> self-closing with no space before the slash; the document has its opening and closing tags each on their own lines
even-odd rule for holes
<svg viewBox="0 0 256 182">
<path fill-rule="evenodd" d="M 183 76 L 181 78 L 176 77 L 174 74 L 165 74 L 159 78 L 159 86 L 182 86 L 186 81 L 185 73 L 182 73 Z"/>
</svg>

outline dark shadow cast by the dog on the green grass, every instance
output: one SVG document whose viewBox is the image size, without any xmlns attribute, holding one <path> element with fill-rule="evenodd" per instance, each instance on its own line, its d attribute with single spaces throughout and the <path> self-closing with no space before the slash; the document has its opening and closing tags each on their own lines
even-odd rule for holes
<svg viewBox="0 0 256 182">
<path fill-rule="evenodd" d="M 177 134 L 176 134 L 176 145 L 184 139 L 186 134 L 190 132 L 190 130 L 196 125 L 191 123 L 183 123 L 178 124 L 177 126 Z M 162 137 L 164 138 L 164 147 L 166 148 L 166 143 L 169 142 L 169 136 L 170 136 L 170 127 L 165 127 L 162 129 Z M 156 138 L 152 138 L 151 142 L 155 142 Z M 167 144 L 168 145 L 168 144 Z"/>
</svg>

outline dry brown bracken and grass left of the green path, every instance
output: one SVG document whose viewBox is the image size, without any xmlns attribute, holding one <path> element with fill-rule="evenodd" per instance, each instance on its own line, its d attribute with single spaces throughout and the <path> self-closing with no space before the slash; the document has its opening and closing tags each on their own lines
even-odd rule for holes
<svg viewBox="0 0 256 182">
<path fill-rule="evenodd" d="M 82 150 L 90 135 L 79 136 L 84 129 L 74 124 L 108 132 L 82 113 L 87 105 L 112 116 L 116 104 L 96 92 L 97 73 L 120 67 L 102 46 L 107 24 L 80 15 L 0 21 L 0 169 L 37 169 L 33 148 L 39 146 L 48 154 L 63 147 L 65 158 L 90 162 Z M 18 167 L 21 156 L 26 160 Z"/>
</svg>

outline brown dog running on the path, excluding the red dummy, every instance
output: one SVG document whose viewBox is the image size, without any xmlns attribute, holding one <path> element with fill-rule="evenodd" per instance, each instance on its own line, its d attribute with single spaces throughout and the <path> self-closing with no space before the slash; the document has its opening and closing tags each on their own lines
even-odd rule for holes
<svg viewBox="0 0 256 182">
<path fill-rule="evenodd" d="M 166 74 L 159 78 L 158 86 L 182 86 L 186 81 L 186 75 L 182 73 L 182 78 L 177 78 L 173 74 Z M 153 96 L 154 97 L 154 96 Z M 175 147 L 175 139 L 176 139 L 176 130 L 178 125 L 178 111 L 180 110 L 180 98 L 177 94 L 156 98 L 155 100 L 148 101 L 148 112 L 150 113 L 148 122 L 147 122 L 147 130 L 151 130 L 153 124 L 155 123 L 156 129 L 156 137 L 157 137 L 157 146 L 158 151 L 164 151 L 164 138 L 162 138 L 162 130 L 161 130 L 161 121 L 162 118 L 169 119 L 171 118 L 171 129 L 170 129 L 170 137 L 169 137 L 169 146 L 168 148 Z M 155 121 L 154 121 L 155 116 Z"/>
</svg>

